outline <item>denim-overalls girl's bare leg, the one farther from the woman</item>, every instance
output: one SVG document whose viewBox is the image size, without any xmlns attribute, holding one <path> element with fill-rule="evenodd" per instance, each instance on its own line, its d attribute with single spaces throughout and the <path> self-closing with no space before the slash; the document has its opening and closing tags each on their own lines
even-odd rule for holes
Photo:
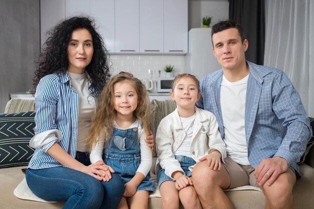
<svg viewBox="0 0 314 209">
<path fill-rule="evenodd" d="M 127 205 L 130 209 L 147 209 L 148 207 L 148 191 L 140 190 L 127 198 Z"/>
</svg>

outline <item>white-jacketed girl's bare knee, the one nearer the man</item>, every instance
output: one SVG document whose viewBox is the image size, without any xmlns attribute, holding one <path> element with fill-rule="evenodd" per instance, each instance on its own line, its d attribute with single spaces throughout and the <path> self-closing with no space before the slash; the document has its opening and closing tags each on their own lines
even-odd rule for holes
<svg viewBox="0 0 314 209">
<path fill-rule="evenodd" d="M 181 189 L 179 197 L 185 209 L 202 209 L 201 202 L 193 186 Z"/>
</svg>

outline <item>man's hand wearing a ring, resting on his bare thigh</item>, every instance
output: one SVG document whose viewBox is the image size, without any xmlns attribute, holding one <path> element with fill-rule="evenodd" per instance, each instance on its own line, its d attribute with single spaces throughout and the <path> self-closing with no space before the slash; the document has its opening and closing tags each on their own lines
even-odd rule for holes
<svg viewBox="0 0 314 209">
<path fill-rule="evenodd" d="M 267 181 L 270 186 L 277 177 L 288 169 L 288 162 L 282 157 L 265 158 L 256 166 L 254 176 L 258 185 L 262 186 Z"/>
</svg>

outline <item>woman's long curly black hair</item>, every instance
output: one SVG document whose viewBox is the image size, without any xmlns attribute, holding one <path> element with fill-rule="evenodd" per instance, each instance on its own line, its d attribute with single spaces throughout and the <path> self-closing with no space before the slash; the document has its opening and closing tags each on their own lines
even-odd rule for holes
<svg viewBox="0 0 314 209">
<path fill-rule="evenodd" d="M 60 21 L 47 32 L 48 38 L 43 45 L 33 78 L 34 91 L 36 91 L 39 80 L 45 75 L 67 70 L 69 65 L 68 44 L 73 30 L 79 28 L 87 29 L 93 39 L 93 57 L 91 62 L 85 67 L 90 76 L 91 87 L 94 89 L 92 95 L 97 96 L 98 92 L 102 90 L 111 76 L 109 57 L 107 57 L 108 51 L 105 48 L 104 41 L 96 31 L 93 18 L 90 16 L 72 16 Z"/>
</svg>

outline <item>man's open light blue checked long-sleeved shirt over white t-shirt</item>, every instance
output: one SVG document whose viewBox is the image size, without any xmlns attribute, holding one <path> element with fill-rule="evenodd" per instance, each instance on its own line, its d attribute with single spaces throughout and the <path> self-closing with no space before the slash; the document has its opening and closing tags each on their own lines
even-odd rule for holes
<svg viewBox="0 0 314 209">
<path fill-rule="evenodd" d="M 245 136 L 249 162 L 256 167 L 263 158 L 280 156 L 298 171 L 297 162 L 311 137 L 301 98 L 282 70 L 247 63 L 250 73 L 245 101 Z M 222 76 L 220 69 L 201 80 L 202 97 L 197 106 L 215 114 L 224 138 L 220 106 Z"/>
</svg>

